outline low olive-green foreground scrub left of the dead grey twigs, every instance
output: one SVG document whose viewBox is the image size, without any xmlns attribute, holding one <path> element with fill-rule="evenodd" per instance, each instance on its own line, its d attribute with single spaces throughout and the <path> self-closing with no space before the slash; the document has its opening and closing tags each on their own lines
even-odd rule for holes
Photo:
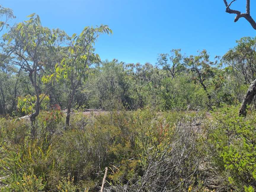
<svg viewBox="0 0 256 192">
<path fill-rule="evenodd" d="M 151 155 L 160 155 L 174 137 L 179 121 L 192 122 L 195 117 L 138 110 L 113 111 L 88 119 L 78 113 L 72 116 L 70 129 L 64 131 L 64 118 L 52 115 L 58 120 L 39 116 L 39 131 L 33 140 L 25 120 L 1 119 L 2 190 L 97 191 L 105 167 L 110 170 L 106 186 L 136 183 Z M 55 132 L 48 129 L 51 124 Z"/>
</svg>

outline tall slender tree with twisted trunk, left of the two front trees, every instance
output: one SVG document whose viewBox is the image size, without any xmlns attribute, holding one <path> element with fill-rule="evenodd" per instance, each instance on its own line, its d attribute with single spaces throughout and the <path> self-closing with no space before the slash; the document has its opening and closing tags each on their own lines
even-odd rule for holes
<svg viewBox="0 0 256 192">
<path fill-rule="evenodd" d="M 49 28 L 43 27 L 38 15 L 35 13 L 28 16 L 30 19 L 15 25 L 9 33 L 3 35 L 7 42 L 6 51 L 11 50 L 11 63 L 24 70 L 34 88 L 35 105 L 30 114 L 31 135 L 35 137 L 35 121 L 39 115 L 40 104 L 47 95 L 41 96 L 39 88 L 39 73 L 44 71 L 43 58 L 47 49 L 54 51 L 52 46 L 56 34 Z M 49 88 L 48 88 L 49 90 Z"/>
</svg>

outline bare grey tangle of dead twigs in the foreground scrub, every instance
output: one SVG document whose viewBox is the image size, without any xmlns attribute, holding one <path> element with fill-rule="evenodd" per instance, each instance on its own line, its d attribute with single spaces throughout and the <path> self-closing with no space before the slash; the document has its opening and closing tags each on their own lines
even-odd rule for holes
<svg viewBox="0 0 256 192">
<path fill-rule="evenodd" d="M 202 138 L 202 117 L 188 119 L 184 116 L 174 128 L 173 137 L 164 145 L 163 151 L 157 150 L 148 156 L 147 165 L 143 167 L 143 175 L 129 180 L 124 185 L 111 185 L 106 192 L 171 192 L 183 191 L 200 177 L 199 165 L 205 144 L 199 149 L 198 142 Z M 205 137 L 205 136 L 204 136 Z M 205 142 L 208 136 L 205 137 Z"/>
</svg>

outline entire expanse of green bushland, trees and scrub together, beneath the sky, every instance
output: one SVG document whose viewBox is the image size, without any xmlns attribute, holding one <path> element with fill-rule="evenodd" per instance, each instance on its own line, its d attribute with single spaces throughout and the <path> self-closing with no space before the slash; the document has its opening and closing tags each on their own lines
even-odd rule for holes
<svg viewBox="0 0 256 192">
<path fill-rule="evenodd" d="M 1 6 L 0 17 L 15 18 Z M 0 191 L 99 191 L 103 178 L 109 192 L 255 191 L 256 97 L 238 111 L 256 38 L 215 59 L 101 61 L 107 25 L 69 36 L 28 17 L 0 22 Z"/>
</svg>

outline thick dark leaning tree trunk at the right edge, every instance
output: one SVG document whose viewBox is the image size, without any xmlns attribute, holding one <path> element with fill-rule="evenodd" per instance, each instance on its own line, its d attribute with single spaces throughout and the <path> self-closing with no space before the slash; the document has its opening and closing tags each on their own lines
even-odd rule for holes
<svg viewBox="0 0 256 192">
<path fill-rule="evenodd" d="M 249 88 L 247 89 L 246 95 L 244 95 L 244 99 L 239 109 L 240 116 L 246 116 L 247 105 L 250 105 L 255 94 L 256 94 L 256 79 L 252 82 L 252 84 L 250 84 Z"/>
</svg>

